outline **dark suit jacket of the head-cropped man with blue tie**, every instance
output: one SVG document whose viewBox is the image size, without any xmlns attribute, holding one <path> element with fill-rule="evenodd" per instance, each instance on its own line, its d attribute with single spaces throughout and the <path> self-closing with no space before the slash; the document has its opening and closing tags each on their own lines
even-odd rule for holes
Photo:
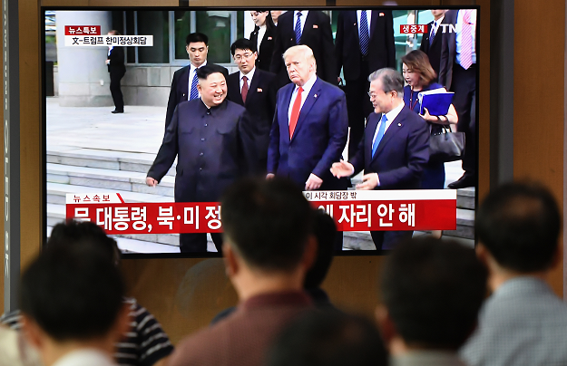
<svg viewBox="0 0 567 366">
<path fill-rule="evenodd" d="M 345 80 L 357 80 L 360 77 L 361 53 L 356 10 L 338 13 L 335 54 L 337 75 L 343 68 Z M 394 18 L 391 11 L 372 11 L 367 60 L 369 72 L 384 67 L 396 68 Z"/>
</svg>

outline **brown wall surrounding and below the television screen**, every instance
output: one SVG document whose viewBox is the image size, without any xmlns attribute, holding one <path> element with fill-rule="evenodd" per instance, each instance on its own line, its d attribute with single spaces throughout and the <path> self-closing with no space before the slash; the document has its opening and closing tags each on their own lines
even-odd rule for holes
<svg viewBox="0 0 567 366">
<path fill-rule="evenodd" d="M 556 8 L 563 8 L 563 1 L 551 0 Z M 225 4 L 226 3 L 226 4 Z M 230 3 L 230 4 L 229 4 Z M 295 2 L 270 2 L 270 5 L 296 5 Z M 178 5 L 178 1 L 163 1 L 161 6 Z M 369 1 L 347 1 L 339 0 L 337 5 L 379 5 L 381 2 Z M 489 186 L 489 15 L 490 1 L 479 0 L 476 3 L 470 1 L 398 1 L 398 5 L 481 5 L 481 77 L 480 77 L 480 110 L 479 114 L 479 133 L 481 141 L 484 141 L 480 149 L 480 192 L 483 197 Z M 105 6 L 105 5 L 154 5 L 153 1 L 132 1 L 132 0 L 25 0 L 20 2 L 20 69 L 21 69 L 21 124 L 22 124 L 22 263 L 25 265 L 30 258 L 38 253 L 42 237 L 41 223 L 41 196 L 42 184 L 40 172 L 44 162 L 41 154 L 41 95 L 40 95 L 40 37 L 39 37 L 39 6 L 50 5 L 73 5 L 73 6 Z M 191 5 L 246 5 L 259 6 L 265 5 L 262 1 L 193 1 Z M 325 5 L 325 1 L 311 1 L 309 5 Z M 563 65 L 563 42 L 558 38 L 556 49 L 546 47 L 546 43 L 540 43 L 542 38 L 549 37 L 549 34 L 564 34 L 564 12 L 552 12 L 553 22 L 549 21 L 549 9 L 553 7 L 542 7 L 529 5 L 526 2 L 518 2 L 515 5 L 516 19 L 520 15 L 532 24 L 525 27 L 523 31 L 522 43 L 531 44 L 537 47 L 537 52 L 532 49 L 530 52 L 533 58 L 537 55 L 540 59 L 546 60 L 545 65 Z M 547 11 L 546 11 L 547 9 Z M 555 19 L 557 18 L 557 19 Z M 522 27 L 522 24 L 518 24 Z M 516 27 L 517 29 L 517 27 Z M 554 35 L 554 36 L 555 36 Z M 516 37 L 515 44 L 520 42 L 520 37 Z M 517 46 L 519 47 L 519 46 Z M 561 49 L 560 49 L 561 48 Z M 519 48 L 516 49 L 516 54 Z M 527 51 L 525 51 L 527 52 Z M 560 54 L 561 53 L 561 54 Z M 534 61 L 535 63 L 535 61 Z M 543 135 L 540 135 L 539 128 L 523 113 L 523 105 L 530 101 L 530 105 L 543 106 L 538 109 L 539 120 L 552 120 L 558 117 L 558 111 L 562 111 L 563 89 L 561 84 L 557 84 L 552 91 L 547 92 L 527 92 L 530 91 L 533 83 L 543 81 L 549 75 L 544 68 L 534 68 L 532 63 L 516 62 L 515 72 L 520 77 L 516 78 L 518 87 L 523 87 L 523 91 L 514 103 L 516 111 L 516 130 L 514 130 L 514 161 L 522 162 L 521 166 L 514 165 L 514 169 L 525 172 L 526 174 L 537 175 L 536 178 L 548 178 L 553 185 L 556 197 L 562 197 L 562 149 L 541 149 L 545 142 Z M 556 71 L 556 70 L 555 70 Z M 530 75 L 525 77 L 525 75 Z M 555 78 L 562 80 L 562 78 Z M 540 82 L 542 83 L 542 82 Z M 516 90 L 518 89 L 516 87 Z M 549 100 L 550 95 L 561 100 L 555 103 L 554 99 Z M 546 103 L 546 104 L 543 104 Z M 562 113 L 557 125 L 562 125 Z M 537 130 L 536 130 L 537 129 Z M 555 128 L 553 128 L 555 129 Z M 529 142 L 524 146 L 516 144 L 523 140 L 533 139 L 540 143 Z M 544 134 L 549 141 L 562 146 L 562 133 L 556 130 L 548 130 Z M 484 147 L 484 148 L 483 148 Z M 527 161 L 521 160 L 523 152 L 530 154 L 533 158 Z M 522 154 L 522 155 L 521 155 Z M 551 154 L 551 155 L 550 155 Z M 344 309 L 357 310 L 361 313 L 372 315 L 374 307 L 378 301 L 377 274 L 382 263 L 381 257 L 338 257 L 336 258 L 327 280 L 324 284 L 331 300 Z M 236 303 L 236 294 L 224 275 L 222 261 L 220 259 L 143 259 L 127 260 L 122 264 L 122 269 L 129 284 L 130 294 L 135 296 L 140 303 L 146 306 L 162 323 L 166 332 L 171 336 L 172 342 L 178 342 L 184 334 L 193 332 L 210 322 L 212 316 L 221 309 Z M 562 273 L 553 276 L 553 288 L 558 294 L 562 294 Z M 1 305 L 0 305 L 1 306 Z M 0 308 L 0 310 L 2 310 Z"/>
</svg>

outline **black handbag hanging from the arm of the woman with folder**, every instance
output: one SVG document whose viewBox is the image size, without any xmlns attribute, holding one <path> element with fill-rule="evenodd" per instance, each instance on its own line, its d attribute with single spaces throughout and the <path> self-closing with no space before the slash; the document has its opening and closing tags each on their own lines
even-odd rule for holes
<svg viewBox="0 0 567 366">
<path fill-rule="evenodd" d="M 463 155 L 464 132 L 451 132 L 448 125 L 432 129 L 429 136 L 429 161 L 455 161 L 463 159 Z"/>
</svg>

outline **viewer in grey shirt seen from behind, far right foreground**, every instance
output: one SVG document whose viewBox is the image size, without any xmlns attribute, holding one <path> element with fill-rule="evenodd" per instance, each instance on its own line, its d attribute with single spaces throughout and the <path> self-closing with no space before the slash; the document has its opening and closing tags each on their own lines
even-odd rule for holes
<svg viewBox="0 0 567 366">
<path fill-rule="evenodd" d="M 545 283 L 561 259 L 552 193 L 531 183 L 503 185 L 486 197 L 475 226 L 492 295 L 461 356 L 471 366 L 567 365 L 567 305 Z"/>
</svg>

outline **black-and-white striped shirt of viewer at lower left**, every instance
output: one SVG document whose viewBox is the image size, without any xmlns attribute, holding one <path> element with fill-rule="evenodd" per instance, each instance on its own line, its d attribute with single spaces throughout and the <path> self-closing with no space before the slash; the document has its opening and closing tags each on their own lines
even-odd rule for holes
<svg viewBox="0 0 567 366">
<path fill-rule="evenodd" d="M 125 298 L 129 303 L 132 318 L 130 332 L 124 333 L 124 341 L 116 343 L 114 359 L 121 366 L 152 366 L 155 362 L 173 352 L 173 345 L 161 324 L 146 308 L 134 298 Z M 19 311 L 6 313 L 0 317 L 0 323 L 19 330 L 22 327 L 22 315 Z"/>
</svg>

